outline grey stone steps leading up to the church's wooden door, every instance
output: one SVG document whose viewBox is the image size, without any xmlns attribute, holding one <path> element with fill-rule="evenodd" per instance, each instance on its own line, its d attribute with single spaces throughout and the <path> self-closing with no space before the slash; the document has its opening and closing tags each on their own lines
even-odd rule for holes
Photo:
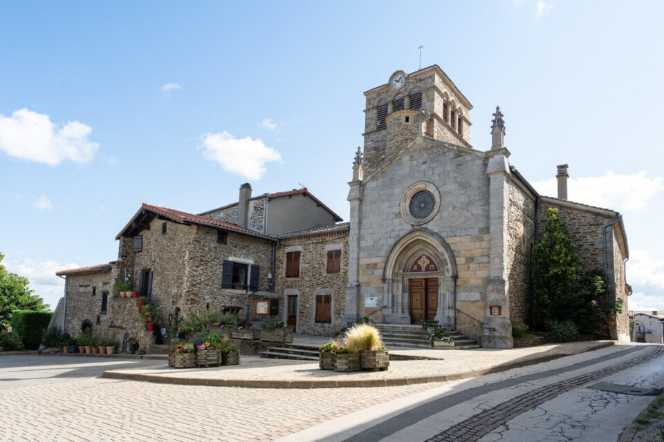
<svg viewBox="0 0 664 442">
<path fill-rule="evenodd" d="M 429 332 L 422 328 L 421 325 L 392 325 L 392 324 L 376 324 L 382 335 L 382 342 L 385 347 L 411 347 L 411 348 L 429 348 L 427 336 Z M 454 345 L 450 347 L 436 347 L 436 349 L 448 350 L 464 350 L 479 348 L 481 345 L 470 336 L 461 334 L 452 327 L 443 327 L 445 332 L 450 334 Z"/>
</svg>

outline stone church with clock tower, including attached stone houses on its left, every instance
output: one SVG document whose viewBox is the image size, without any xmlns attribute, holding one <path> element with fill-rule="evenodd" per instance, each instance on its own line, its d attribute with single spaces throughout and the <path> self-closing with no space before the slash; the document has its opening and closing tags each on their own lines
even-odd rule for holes
<svg viewBox="0 0 664 442">
<path fill-rule="evenodd" d="M 113 291 L 129 279 L 163 307 L 163 324 L 210 307 L 279 316 L 296 333 L 323 336 L 364 317 L 437 320 L 483 347 L 510 348 L 511 324 L 533 317 L 531 253 L 555 208 L 584 270 L 604 270 L 611 300 L 623 300 L 611 337 L 629 340 L 620 213 L 567 200 L 566 164 L 557 197 L 537 193 L 510 165 L 499 108 L 486 143 L 472 146 L 472 105 L 439 66 L 398 70 L 365 97 L 348 222 L 307 189 L 252 197 L 243 184 L 237 202 L 198 214 L 143 204 L 116 237 L 117 260 L 57 272 L 63 328 L 149 343 Z M 261 302 L 268 312 L 259 314 Z"/>
</svg>

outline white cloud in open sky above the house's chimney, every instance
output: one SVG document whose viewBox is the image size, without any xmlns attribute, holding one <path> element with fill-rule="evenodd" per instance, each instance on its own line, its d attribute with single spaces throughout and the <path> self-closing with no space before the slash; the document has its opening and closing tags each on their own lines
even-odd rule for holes
<svg viewBox="0 0 664 442">
<path fill-rule="evenodd" d="M 282 162 L 275 149 L 266 146 L 257 138 L 237 139 L 230 133 L 207 133 L 203 135 L 203 156 L 221 164 L 226 171 L 237 173 L 250 180 L 260 180 L 267 171 L 264 164 Z"/>
</svg>

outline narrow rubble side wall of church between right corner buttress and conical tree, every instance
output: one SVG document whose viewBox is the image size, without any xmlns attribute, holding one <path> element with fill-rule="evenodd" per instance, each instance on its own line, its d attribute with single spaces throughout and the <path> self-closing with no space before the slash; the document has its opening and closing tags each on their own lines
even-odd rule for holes
<svg viewBox="0 0 664 442">
<path fill-rule="evenodd" d="M 531 253 L 535 243 L 535 200 L 515 182 L 510 182 L 508 198 L 508 244 L 506 273 L 510 320 L 528 324 L 531 317 Z"/>
</svg>

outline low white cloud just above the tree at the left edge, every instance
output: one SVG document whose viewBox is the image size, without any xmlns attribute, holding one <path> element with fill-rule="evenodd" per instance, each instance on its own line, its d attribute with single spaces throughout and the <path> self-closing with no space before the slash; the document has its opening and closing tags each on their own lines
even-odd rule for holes
<svg viewBox="0 0 664 442">
<path fill-rule="evenodd" d="M 55 261 L 36 262 L 30 258 L 21 261 L 3 261 L 2 264 L 12 273 L 25 276 L 30 281 L 30 289 L 42 296 L 53 310 L 57 301 L 64 295 L 64 280 L 55 276 L 55 272 L 64 269 L 76 269 L 80 265 L 69 262 L 61 264 Z"/>
</svg>

